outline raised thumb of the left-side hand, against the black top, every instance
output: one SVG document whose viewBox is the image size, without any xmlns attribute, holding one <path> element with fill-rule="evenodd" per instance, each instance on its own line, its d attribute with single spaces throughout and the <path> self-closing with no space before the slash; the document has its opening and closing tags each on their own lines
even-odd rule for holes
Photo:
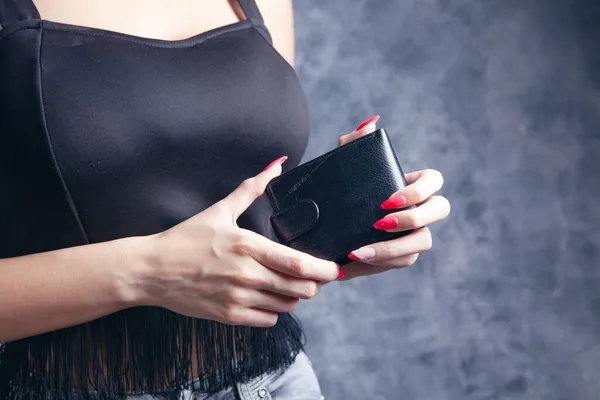
<svg viewBox="0 0 600 400">
<path fill-rule="evenodd" d="M 262 196 L 271 179 L 281 175 L 281 164 L 287 158 L 283 156 L 272 161 L 261 173 L 243 180 L 233 192 L 221 200 L 221 205 L 233 214 L 234 221 L 250 207 L 254 200 Z"/>
</svg>

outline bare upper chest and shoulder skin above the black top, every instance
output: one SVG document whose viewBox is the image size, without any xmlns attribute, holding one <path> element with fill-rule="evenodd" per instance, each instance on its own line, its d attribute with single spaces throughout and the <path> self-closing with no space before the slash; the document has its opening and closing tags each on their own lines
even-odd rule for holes
<svg viewBox="0 0 600 400">
<path fill-rule="evenodd" d="M 180 40 L 245 19 L 236 0 L 34 0 L 42 19 L 152 39 Z M 173 4 L 177 4 L 175 7 Z M 294 65 L 291 0 L 256 0 L 273 46 Z M 115 12 L 114 10 L 118 10 Z"/>
</svg>

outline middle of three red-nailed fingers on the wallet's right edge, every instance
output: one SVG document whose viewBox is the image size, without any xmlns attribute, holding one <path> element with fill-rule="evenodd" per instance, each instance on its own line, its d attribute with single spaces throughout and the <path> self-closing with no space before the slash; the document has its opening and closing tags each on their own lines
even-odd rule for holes
<svg viewBox="0 0 600 400">
<path fill-rule="evenodd" d="M 416 208 L 386 215 L 373 227 L 388 232 L 418 229 L 442 220 L 449 214 L 450 202 L 444 196 L 431 196 Z"/>
</svg>

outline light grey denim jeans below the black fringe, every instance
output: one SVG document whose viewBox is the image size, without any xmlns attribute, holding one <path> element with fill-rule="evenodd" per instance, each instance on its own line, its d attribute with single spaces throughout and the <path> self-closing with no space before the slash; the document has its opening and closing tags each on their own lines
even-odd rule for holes
<svg viewBox="0 0 600 400">
<path fill-rule="evenodd" d="M 324 400 L 319 381 L 306 353 L 300 352 L 288 368 L 263 375 L 248 383 L 237 383 L 219 393 L 207 395 L 193 389 L 181 393 L 180 400 Z M 162 400 L 155 395 L 131 395 L 127 400 Z"/>
</svg>

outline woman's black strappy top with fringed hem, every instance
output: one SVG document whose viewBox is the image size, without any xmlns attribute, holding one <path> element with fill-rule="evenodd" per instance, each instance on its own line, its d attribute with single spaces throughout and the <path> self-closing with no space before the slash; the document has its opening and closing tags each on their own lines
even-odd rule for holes
<svg viewBox="0 0 600 400">
<path fill-rule="evenodd" d="M 160 232 L 275 158 L 300 162 L 305 95 L 254 1 L 240 5 L 246 20 L 167 41 L 0 0 L 0 258 Z M 270 215 L 262 196 L 238 224 L 274 239 Z M 138 307 L 6 344 L 0 398 L 175 392 L 192 340 L 206 391 L 289 365 L 303 346 L 291 314 L 234 328 Z"/>
</svg>

